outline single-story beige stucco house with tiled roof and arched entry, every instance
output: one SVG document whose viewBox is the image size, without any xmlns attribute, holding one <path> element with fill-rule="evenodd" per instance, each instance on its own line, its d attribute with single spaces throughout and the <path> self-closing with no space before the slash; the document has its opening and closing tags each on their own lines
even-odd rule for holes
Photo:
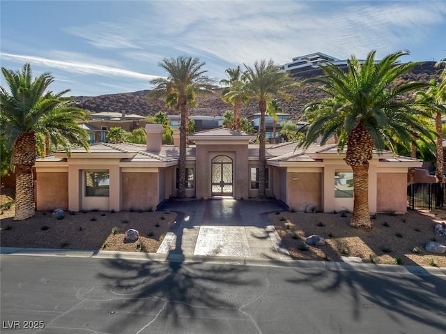
<svg viewBox="0 0 446 334">
<path fill-rule="evenodd" d="M 162 126 L 146 125 L 147 144 L 97 143 L 85 149 L 39 158 L 36 162 L 36 208 L 70 211 L 154 209 L 178 195 L 176 145 L 162 145 Z M 255 135 L 226 128 L 189 135 L 186 195 L 197 199 L 258 196 L 259 145 Z M 314 144 L 306 151 L 295 143 L 266 146 L 266 195 L 303 211 L 353 209 L 353 174 L 337 145 Z M 374 153 L 369 167 L 371 213 L 406 212 L 408 167 L 422 162 Z"/>
</svg>

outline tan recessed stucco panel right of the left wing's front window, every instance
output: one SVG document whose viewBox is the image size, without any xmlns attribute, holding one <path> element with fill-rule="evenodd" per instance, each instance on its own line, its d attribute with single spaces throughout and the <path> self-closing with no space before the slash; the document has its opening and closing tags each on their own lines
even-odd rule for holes
<svg viewBox="0 0 446 334">
<path fill-rule="evenodd" d="M 159 201 L 158 173 L 122 173 L 122 210 L 148 210 Z"/>
</svg>

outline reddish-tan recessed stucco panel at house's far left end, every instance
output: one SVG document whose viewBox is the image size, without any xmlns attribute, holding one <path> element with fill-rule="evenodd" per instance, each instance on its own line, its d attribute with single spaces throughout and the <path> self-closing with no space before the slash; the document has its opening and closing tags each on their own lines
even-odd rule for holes
<svg viewBox="0 0 446 334">
<path fill-rule="evenodd" d="M 68 210 L 68 172 L 38 172 L 36 175 L 36 209 Z"/>
</svg>

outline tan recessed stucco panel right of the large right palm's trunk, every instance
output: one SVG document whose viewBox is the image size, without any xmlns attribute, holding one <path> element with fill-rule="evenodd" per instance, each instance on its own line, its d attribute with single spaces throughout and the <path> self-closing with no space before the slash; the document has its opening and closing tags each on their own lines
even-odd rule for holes
<svg viewBox="0 0 446 334">
<path fill-rule="evenodd" d="M 377 212 L 407 211 L 407 173 L 377 174 Z"/>
</svg>

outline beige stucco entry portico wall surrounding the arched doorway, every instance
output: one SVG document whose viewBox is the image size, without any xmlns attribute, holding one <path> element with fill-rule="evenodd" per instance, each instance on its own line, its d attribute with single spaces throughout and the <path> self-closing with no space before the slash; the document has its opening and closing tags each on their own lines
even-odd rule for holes
<svg viewBox="0 0 446 334">
<path fill-rule="evenodd" d="M 197 144 L 196 196 L 199 199 L 211 197 L 211 160 L 217 155 L 227 155 L 233 160 L 233 197 L 249 197 L 248 146 L 246 144 Z"/>
</svg>

